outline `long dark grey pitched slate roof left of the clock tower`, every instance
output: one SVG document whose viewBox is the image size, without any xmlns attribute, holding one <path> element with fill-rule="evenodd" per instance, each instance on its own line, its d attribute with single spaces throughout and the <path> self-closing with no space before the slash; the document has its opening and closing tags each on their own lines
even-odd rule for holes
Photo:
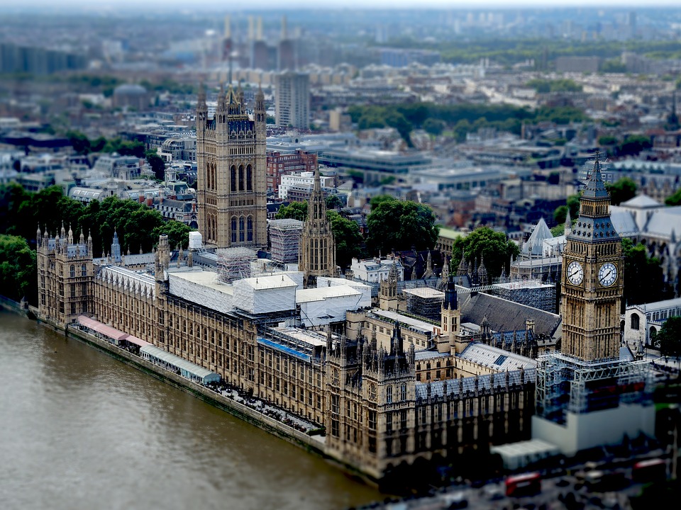
<svg viewBox="0 0 681 510">
<path fill-rule="evenodd" d="M 487 317 L 489 328 L 493 331 L 514 331 L 525 329 L 525 319 L 530 318 L 535 321 L 536 334 L 560 336 L 558 314 L 485 293 L 470 293 L 468 296 L 462 293 L 459 297 L 460 302 L 463 301 L 460 305 L 461 322 L 482 324 L 482 319 Z"/>
</svg>

